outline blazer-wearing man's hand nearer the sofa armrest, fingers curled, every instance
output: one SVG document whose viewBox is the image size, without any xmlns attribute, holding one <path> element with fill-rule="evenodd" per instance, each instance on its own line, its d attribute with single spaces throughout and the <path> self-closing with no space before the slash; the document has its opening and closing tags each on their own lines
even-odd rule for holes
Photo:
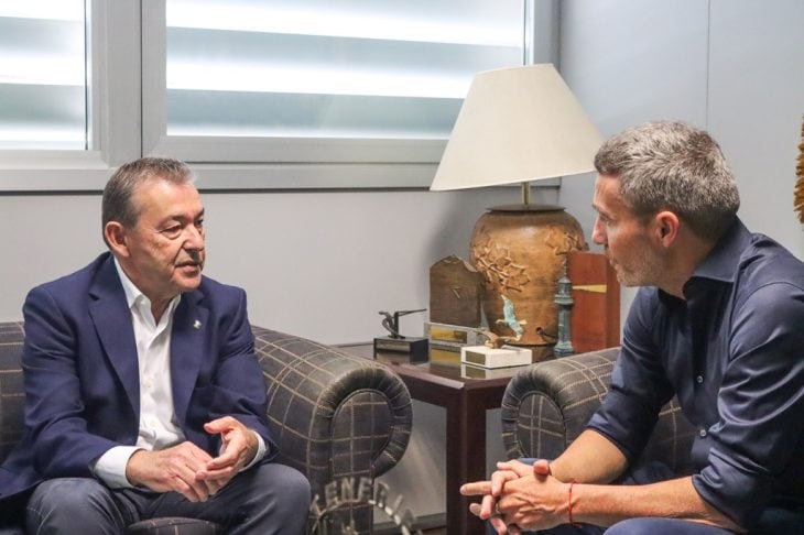
<svg viewBox="0 0 804 535">
<path fill-rule="evenodd" d="M 204 424 L 204 430 L 213 435 L 219 434 L 222 447 L 218 457 L 210 459 L 203 469 L 198 470 L 196 479 L 207 481 L 210 485 L 217 485 L 220 489 L 251 462 L 259 445 L 254 434 L 231 416 L 224 416 Z"/>
</svg>

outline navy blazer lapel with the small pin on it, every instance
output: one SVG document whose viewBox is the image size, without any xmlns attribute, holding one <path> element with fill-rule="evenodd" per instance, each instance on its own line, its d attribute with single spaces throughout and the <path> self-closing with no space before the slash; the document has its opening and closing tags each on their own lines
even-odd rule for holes
<svg viewBox="0 0 804 535">
<path fill-rule="evenodd" d="M 189 292 L 182 296 L 173 316 L 171 335 L 171 382 L 173 406 L 178 423 L 184 426 L 187 406 L 193 394 L 198 370 L 207 352 L 206 336 L 209 310 L 200 306 L 203 293 Z"/>
</svg>

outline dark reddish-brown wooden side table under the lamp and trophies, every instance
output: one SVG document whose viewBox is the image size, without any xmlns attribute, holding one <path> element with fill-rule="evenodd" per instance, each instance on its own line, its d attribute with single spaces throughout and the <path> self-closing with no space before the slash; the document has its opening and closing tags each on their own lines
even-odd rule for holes
<svg viewBox="0 0 804 535">
<path fill-rule="evenodd" d="M 371 343 L 339 347 L 373 358 Z M 534 362 L 552 358 L 552 349 L 535 348 Z M 412 364 L 392 353 L 381 354 L 377 360 L 392 367 L 412 398 L 446 410 L 447 534 L 485 534 L 485 523 L 469 513 L 472 500 L 461 496 L 459 489 L 463 483 L 486 479 L 486 412 L 500 407 L 508 382 L 521 367 L 486 372 L 459 364 Z"/>
</svg>

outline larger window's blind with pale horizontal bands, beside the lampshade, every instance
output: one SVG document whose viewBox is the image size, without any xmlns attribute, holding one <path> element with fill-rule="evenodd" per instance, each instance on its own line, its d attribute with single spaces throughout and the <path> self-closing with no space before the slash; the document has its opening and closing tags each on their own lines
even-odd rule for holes
<svg viewBox="0 0 804 535">
<path fill-rule="evenodd" d="M 166 134 L 448 138 L 522 0 L 166 0 Z"/>
</svg>

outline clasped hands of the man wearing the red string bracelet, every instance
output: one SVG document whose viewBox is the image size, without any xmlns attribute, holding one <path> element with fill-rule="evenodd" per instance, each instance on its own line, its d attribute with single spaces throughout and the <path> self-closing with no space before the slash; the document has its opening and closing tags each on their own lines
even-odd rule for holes
<svg viewBox="0 0 804 535">
<path fill-rule="evenodd" d="M 550 463 L 513 460 L 497 463 L 490 481 L 460 487 L 463 495 L 482 496 L 469 511 L 488 520 L 499 535 L 546 529 L 566 522 L 568 484 L 551 474 Z"/>
</svg>

